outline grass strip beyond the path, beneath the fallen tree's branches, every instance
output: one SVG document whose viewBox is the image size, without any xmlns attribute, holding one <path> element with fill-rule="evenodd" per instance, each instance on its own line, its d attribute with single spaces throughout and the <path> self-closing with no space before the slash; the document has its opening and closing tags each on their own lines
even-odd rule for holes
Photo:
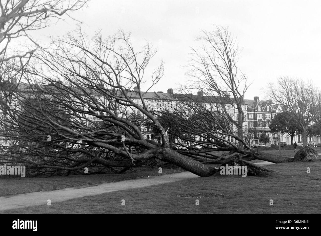
<svg viewBox="0 0 321 236">
<path fill-rule="evenodd" d="M 90 175 L 70 175 L 70 176 L 51 176 L 48 178 L 34 177 L 21 178 L 16 176 L 1 176 L 0 178 L 0 197 L 32 193 L 40 191 L 51 191 L 62 188 L 72 188 L 116 182 L 127 179 L 137 179 L 137 177 L 158 176 L 183 172 L 185 170 L 173 166 L 162 166 L 162 173 L 158 173 L 158 167 L 137 167 L 127 170 L 122 174 L 90 174 Z"/>
</svg>

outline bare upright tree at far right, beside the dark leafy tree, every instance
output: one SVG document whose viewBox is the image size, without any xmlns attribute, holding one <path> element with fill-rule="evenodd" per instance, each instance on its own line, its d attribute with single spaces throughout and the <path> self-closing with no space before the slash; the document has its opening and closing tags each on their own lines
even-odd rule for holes
<svg viewBox="0 0 321 236">
<path fill-rule="evenodd" d="M 307 83 L 296 78 L 280 77 L 277 84 L 269 84 L 267 95 L 279 105 L 286 119 L 299 124 L 303 146 L 307 146 L 308 126 L 314 119 L 313 110 L 316 109 L 316 87 L 311 81 Z"/>
</svg>

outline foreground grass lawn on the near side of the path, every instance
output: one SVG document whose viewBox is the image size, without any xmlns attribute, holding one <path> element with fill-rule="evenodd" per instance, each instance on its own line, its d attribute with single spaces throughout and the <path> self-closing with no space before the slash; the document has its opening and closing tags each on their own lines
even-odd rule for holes
<svg viewBox="0 0 321 236">
<path fill-rule="evenodd" d="M 294 152 L 292 153 L 289 150 L 282 154 L 293 157 Z M 280 173 L 246 178 L 215 175 L 1 213 L 319 214 L 321 212 L 320 162 L 279 163 L 265 167 Z M 310 174 L 307 174 L 307 167 L 310 168 Z M 125 206 L 121 205 L 123 199 Z M 195 200 L 199 200 L 199 205 L 195 205 Z M 273 200 L 273 205 L 270 205 L 270 200 Z"/>
</svg>

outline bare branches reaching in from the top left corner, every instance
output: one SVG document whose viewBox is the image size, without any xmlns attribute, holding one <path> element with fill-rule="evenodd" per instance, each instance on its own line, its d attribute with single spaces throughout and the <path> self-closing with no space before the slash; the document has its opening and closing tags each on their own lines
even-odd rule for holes
<svg viewBox="0 0 321 236">
<path fill-rule="evenodd" d="M 48 27 L 52 19 L 60 19 L 83 7 L 88 0 L 2 0 L 0 2 L 0 62 L 28 57 L 35 49 L 17 52 L 9 47 L 13 39 L 33 43 L 28 32 Z M 69 16 L 70 17 L 70 16 Z"/>
</svg>

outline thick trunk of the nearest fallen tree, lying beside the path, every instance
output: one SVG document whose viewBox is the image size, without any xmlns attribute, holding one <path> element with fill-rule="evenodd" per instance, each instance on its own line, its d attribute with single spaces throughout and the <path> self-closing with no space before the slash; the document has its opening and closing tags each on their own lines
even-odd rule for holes
<svg viewBox="0 0 321 236">
<path fill-rule="evenodd" d="M 201 177 L 208 177 L 217 172 L 217 169 L 210 168 L 202 164 L 201 162 L 195 161 L 190 157 L 181 155 L 178 152 L 175 152 L 169 148 L 162 148 L 159 153 L 160 155 L 157 157 L 158 159 L 173 163 L 183 168 L 184 170 L 188 170 L 194 173 L 195 175 Z"/>
</svg>

